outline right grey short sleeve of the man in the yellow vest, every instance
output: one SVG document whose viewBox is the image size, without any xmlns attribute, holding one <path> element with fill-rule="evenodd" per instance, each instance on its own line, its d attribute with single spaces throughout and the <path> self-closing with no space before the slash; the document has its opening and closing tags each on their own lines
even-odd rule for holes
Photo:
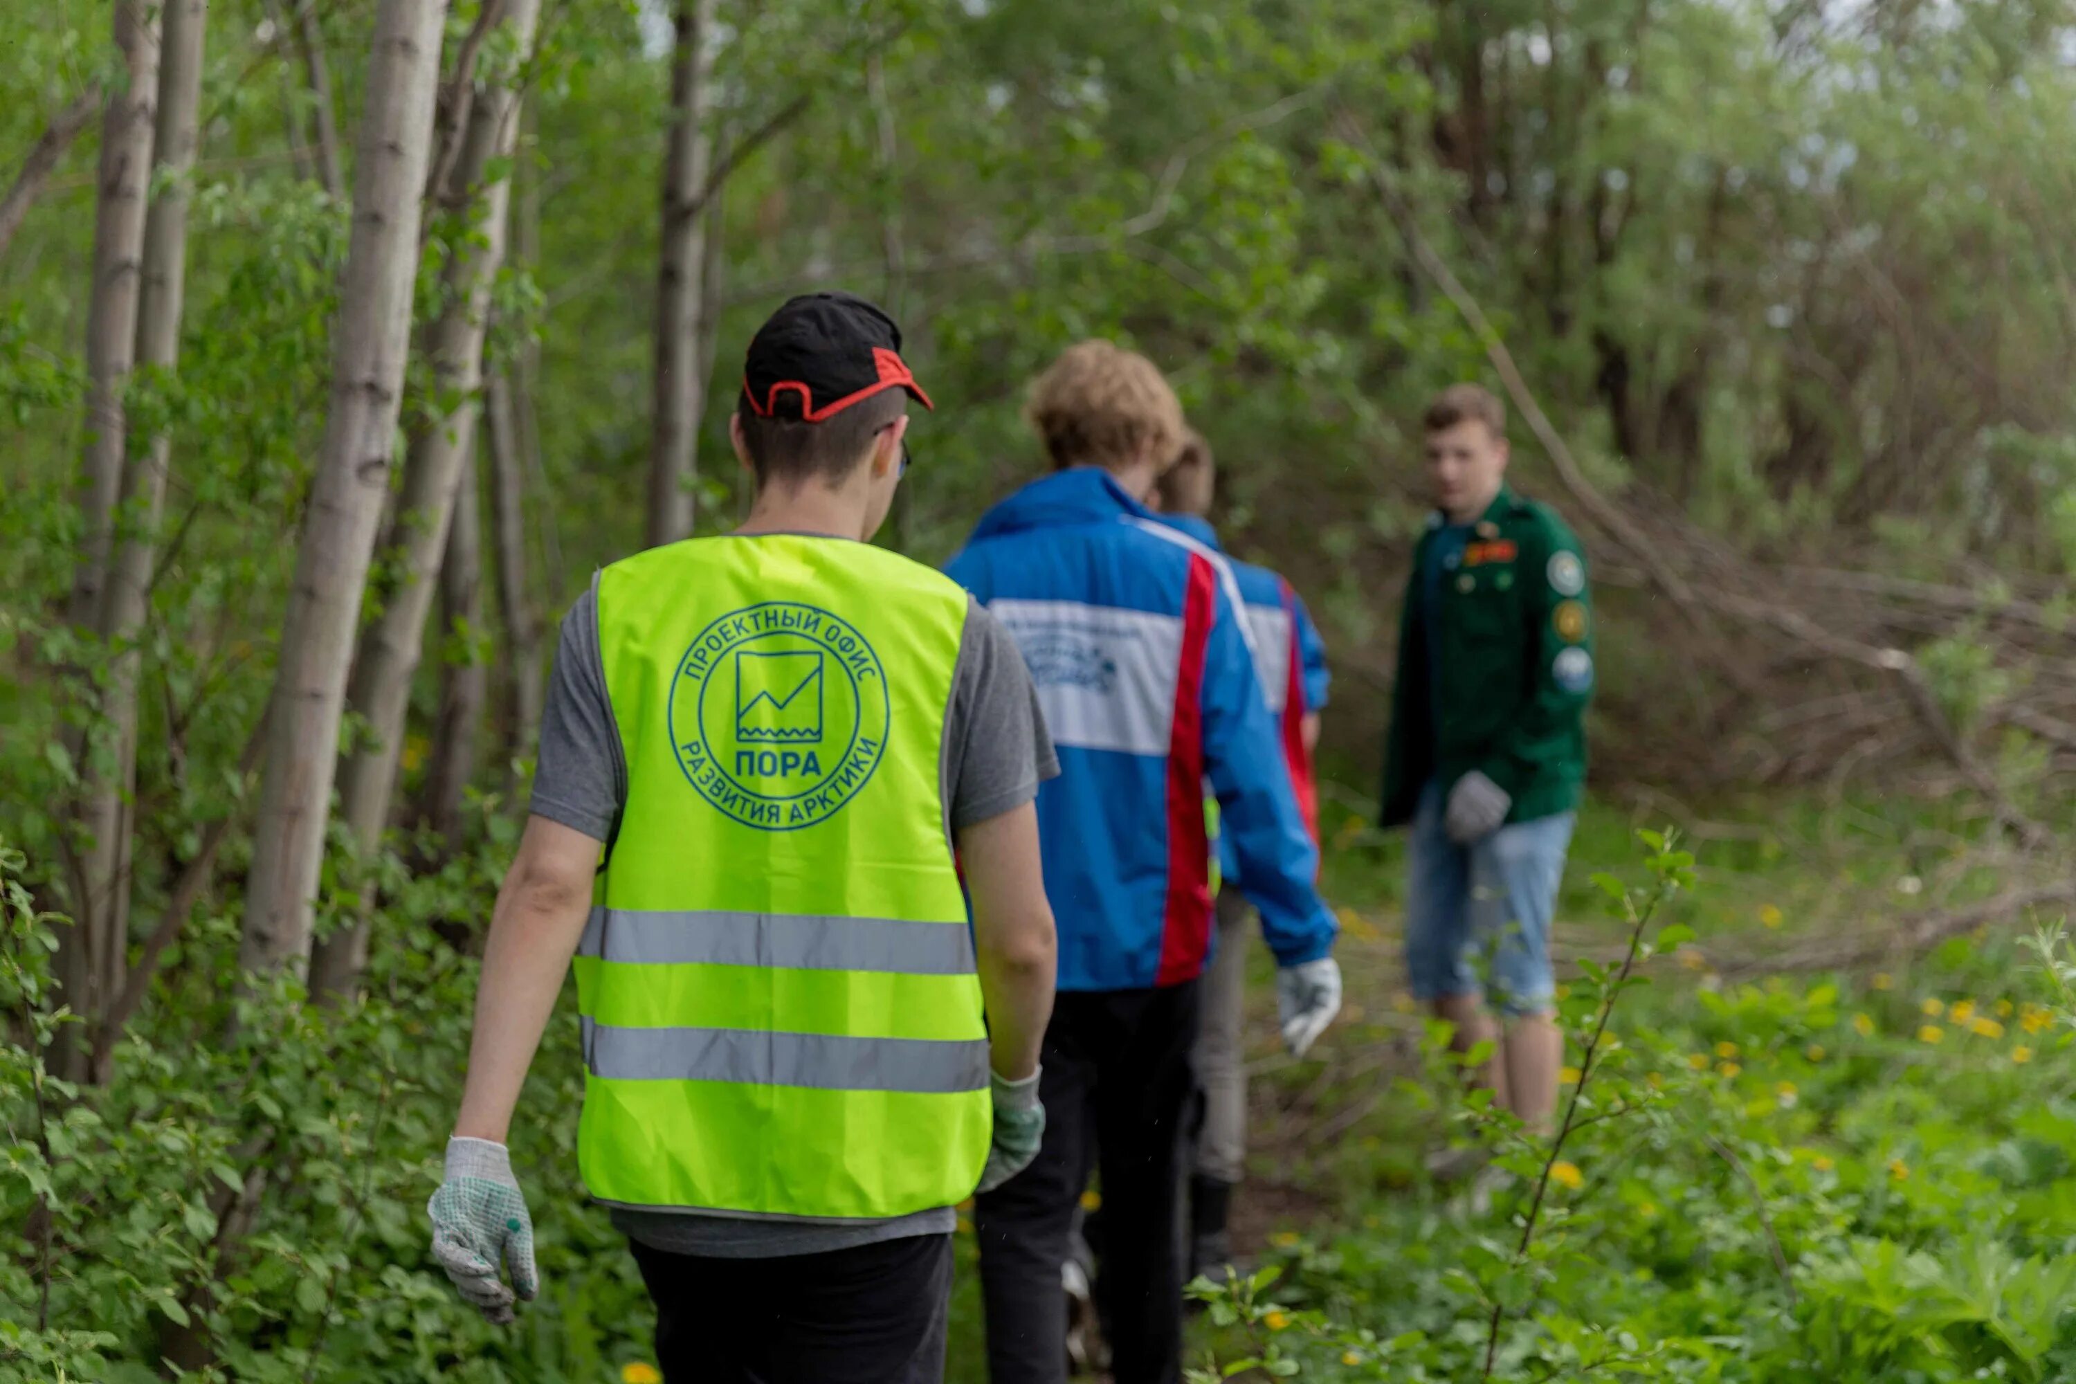
<svg viewBox="0 0 2076 1384">
<path fill-rule="evenodd" d="M 1038 685 L 1015 639 L 972 602 L 945 716 L 943 788 L 951 830 L 1013 811 L 1059 776 Z"/>
</svg>

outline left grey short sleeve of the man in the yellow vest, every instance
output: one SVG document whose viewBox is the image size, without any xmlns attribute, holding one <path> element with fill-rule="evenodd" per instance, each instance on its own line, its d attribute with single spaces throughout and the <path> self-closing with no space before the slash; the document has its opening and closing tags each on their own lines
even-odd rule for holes
<svg viewBox="0 0 2076 1384">
<path fill-rule="evenodd" d="M 612 840 L 627 805 L 627 757 L 606 695 L 598 645 L 598 581 L 563 618 L 540 714 L 540 762 L 529 811 Z"/>
</svg>

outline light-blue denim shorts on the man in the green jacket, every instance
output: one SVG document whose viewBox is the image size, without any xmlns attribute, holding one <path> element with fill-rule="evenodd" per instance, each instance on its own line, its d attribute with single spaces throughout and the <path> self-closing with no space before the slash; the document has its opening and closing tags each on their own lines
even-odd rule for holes
<svg viewBox="0 0 2076 1384">
<path fill-rule="evenodd" d="M 1459 847 L 1443 830 L 1441 786 L 1420 791 L 1405 878 L 1414 998 L 1476 994 L 1507 1015 L 1551 1008 L 1551 913 L 1574 820 L 1515 822 Z"/>
</svg>

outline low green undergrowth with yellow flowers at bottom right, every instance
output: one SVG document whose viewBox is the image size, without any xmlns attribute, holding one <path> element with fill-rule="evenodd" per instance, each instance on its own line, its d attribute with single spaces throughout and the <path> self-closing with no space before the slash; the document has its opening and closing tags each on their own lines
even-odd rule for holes
<svg viewBox="0 0 2076 1384">
<path fill-rule="evenodd" d="M 1638 930 L 1690 882 L 1669 847 L 1646 836 L 1640 892 L 1601 880 L 1638 963 L 1692 942 Z M 1364 1199 L 1333 1233 L 1277 1237 L 1252 1278 L 1198 1280 L 1212 1347 L 1192 1380 L 2066 1378 L 2076 954 L 2059 925 L 2028 946 L 2030 969 L 1949 948 L 1914 996 L 1891 975 L 1659 994 L 1588 967 L 1561 1000 L 1555 1139 L 1464 1096 L 1478 1054 L 1430 1035 L 1412 1094 L 1499 1150 L 1488 1210 Z"/>
</svg>

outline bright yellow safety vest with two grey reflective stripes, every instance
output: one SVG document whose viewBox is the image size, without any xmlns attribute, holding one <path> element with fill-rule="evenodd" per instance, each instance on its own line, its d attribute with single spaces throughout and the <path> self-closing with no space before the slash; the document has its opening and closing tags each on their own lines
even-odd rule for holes
<svg viewBox="0 0 2076 1384">
<path fill-rule="evenodd" d="M 938 778 L 965 612 L 841 539 L 600 575 L 627 803 L 575 961 L 594 1197 L 872 1220 L 974 1191 L 988 1037 Z"/>
</svg>

